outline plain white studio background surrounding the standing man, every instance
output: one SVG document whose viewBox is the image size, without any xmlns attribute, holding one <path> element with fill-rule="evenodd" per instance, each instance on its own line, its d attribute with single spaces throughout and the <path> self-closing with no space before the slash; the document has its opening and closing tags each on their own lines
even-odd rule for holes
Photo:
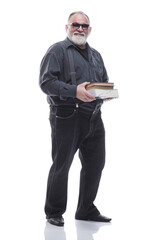
<svg viewBox="0 0 160 240">
<path fill-rule="evenodd" d="M 0 5 L 1 239 L 159 240 L 159 1 L 6 0 Z M 99 231 L 81 226 L 83 237 L 76 232 L 76 156 L 65 233 L 57 230 L 62 235 L 55 238 L 43 212 L 51 145 L 49 108 L 38 75 L 48 47 L 65 39 L 64 26 L 75 10 L 89 15 L 88 42 L 102 54 L 119 90 L 119 99 L 102 109 L 106 167 L 96 199 L 113 221 Z"/>
</svg>

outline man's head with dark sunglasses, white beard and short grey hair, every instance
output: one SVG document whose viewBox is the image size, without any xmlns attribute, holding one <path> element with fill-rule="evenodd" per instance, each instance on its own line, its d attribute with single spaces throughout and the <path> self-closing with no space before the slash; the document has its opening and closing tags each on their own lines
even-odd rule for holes
<svg viewBox="0 0 160 240">
<path fill-rule="evenodd" d="M 85 48 L 87 37 L 91 32 L 89 17 L 83 12 L 73 12 L 66 25 L 68 38 L 81 48 Z"/>
</svg>

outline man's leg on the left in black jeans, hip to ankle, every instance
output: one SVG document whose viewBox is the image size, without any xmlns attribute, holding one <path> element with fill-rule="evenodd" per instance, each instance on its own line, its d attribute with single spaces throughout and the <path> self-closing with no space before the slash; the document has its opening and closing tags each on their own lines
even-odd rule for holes
<svg viewBox="0 0 160 240">
<path fill-rule="evenodd" d="M 53 109 L 50 114 L 53 165 L 48 176 L 47 218 L 59 217 L 66 210 L 68 171 L 76 152 L 77 134 L 77 114 L 74 109 L 67 111 Z"/>
</svg>

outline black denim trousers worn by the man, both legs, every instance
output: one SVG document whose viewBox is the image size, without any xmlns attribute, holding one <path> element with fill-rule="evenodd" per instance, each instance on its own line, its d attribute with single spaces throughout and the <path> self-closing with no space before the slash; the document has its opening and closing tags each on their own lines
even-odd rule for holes
<svg viewBox="0 0 160 240">
<path fill-rule="evenodd" d="M 76 151 L 82 164 L 77 217 L 91 217 L 99 211 L 94 205 L 105 164 L 105 131 L 100 107 L 51 107 L 52 159 L 45 213 L 47 218 L 66 211 L 68 172 Z"/>
</svg>

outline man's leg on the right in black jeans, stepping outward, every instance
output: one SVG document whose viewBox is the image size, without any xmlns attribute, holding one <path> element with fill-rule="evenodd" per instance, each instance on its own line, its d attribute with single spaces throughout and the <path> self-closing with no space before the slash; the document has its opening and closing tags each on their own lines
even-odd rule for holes
<svg viewBox="0 0 160 240">
<path fill-rule="evenodd" d="M 91 119 L 91 128 L 90 135 L 83 141 L 79 151 L 82 169 L 76 218 L 82 219 L 99 215 L 93 202 L 105 164 L 105 131 L 100 113 Z"/>
</svg>

